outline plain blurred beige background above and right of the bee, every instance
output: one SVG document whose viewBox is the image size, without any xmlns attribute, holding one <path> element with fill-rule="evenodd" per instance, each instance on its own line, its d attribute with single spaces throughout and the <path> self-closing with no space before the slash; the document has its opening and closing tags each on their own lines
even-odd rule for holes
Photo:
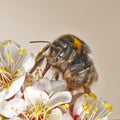
<svg viewBox="0 0 120 120">
<path fill-rule="evenodd" d="M 64 33 L 92 49 L 99 80 L 93 91 L 113 105 L 120 120 L 120 0 L 0 0 L 0 39 L 12 39 L 30 52 Z"/>
</svg>

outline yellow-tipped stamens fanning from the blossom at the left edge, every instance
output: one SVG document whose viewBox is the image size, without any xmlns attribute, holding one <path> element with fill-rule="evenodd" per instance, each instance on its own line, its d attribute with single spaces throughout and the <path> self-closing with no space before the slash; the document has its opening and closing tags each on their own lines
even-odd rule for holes
<svg viewBox="0 0 120 120">
<path fill-rule="evenodd" d="M 4 50 L 8 47 L 7 45 L 10 45 L 9 47 L 15 45 L 17 50 L 17 45 L 15 43 L 13 44 L 11 40 L 8 40 L 6 43 L 2 42 L 0 47 Z M 15 53 L 17 57 L 13 56 L 9 50 L 4 55 L 0 53 L 0 90 L 4 88 L 9 90 L 15 78 L 24 74 L 24 70 L 20 68 L 20 65 L 26 55 L 26 50 L 18 49 Z"/>
</svg>

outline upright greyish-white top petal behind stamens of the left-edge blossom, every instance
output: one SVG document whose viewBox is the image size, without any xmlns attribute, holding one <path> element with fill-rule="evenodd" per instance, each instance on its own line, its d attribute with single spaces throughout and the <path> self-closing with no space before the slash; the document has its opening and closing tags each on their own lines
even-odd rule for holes
<svg viewBox="0 0 120 120">
<path fill-rule="evenodd" d="M 7 41 L 7 45 L 4 47 L 3 58 L 6 61 L 4 64 L 5 68 L 11 69 L 12 72 L 16 73 L 19 68 L 22 68 L 26 57 L 26 49 L 21 48 L 14 41 Z"/>
</svg>

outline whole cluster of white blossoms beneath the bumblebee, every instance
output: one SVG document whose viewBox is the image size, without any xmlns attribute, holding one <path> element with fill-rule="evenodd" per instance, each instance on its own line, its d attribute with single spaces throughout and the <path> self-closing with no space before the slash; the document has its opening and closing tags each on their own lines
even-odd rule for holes
<svg viewBox="0 0 120 120">
<path fill-rule="evenodd" d="M 64 80 L 30 74 L 34 56 L 16 42 L 0 41 L 0 120 L 108 120 L 112 106 L 94 93 L 77 97 Z"/>
</svg>

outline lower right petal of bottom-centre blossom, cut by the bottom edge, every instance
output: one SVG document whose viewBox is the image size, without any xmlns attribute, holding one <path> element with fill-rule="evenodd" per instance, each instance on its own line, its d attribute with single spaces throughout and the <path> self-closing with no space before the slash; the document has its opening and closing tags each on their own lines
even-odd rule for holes
<svg viewBox="0 0 120 120">
<path fill-rule="evenodd" d="M 46 120 L 63 120 L 61 110 L 59 108 L 53 109 L 52 113 L 46 118 Z"/>
</svg>

